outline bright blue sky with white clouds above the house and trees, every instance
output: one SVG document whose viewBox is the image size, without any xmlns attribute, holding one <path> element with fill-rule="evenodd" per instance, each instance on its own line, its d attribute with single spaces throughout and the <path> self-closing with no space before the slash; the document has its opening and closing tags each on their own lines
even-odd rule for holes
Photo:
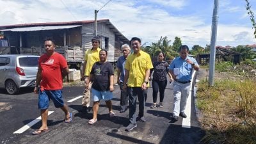
<svg viewBox="0 0 256 144">
<path fill-rule="evenodd" d="M 248 1 L 256 13 L 256 0 Z M 0 0 L 0 6 L 0 26 L 94 20 L 99 10 L 97 19 L 109 19 L 128 39 L 137 36 L 145 45 L 161 36 L 171 45 L 175 36 L 189 47 L 211 43 L 214 0 Z M 216 45 L 256 44 L 253 32 L 244 0 L 219 0 Z"/>
</svg>

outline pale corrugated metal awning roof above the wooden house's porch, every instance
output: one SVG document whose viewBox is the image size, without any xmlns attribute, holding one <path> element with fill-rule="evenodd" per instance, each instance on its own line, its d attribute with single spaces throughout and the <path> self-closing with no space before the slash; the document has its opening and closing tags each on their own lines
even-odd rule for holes
<svg viewBox="0 0 256 144">
<path fill-rule="evenodd" d="M 51 29 L 69 29 L 79 27 L 81 25 L 71 25 L 71 26 L 33 26 L 26 28 L 10 28 L 10 29 L 0 29 L 0 31 L 44 31 Z"/>
</svg>

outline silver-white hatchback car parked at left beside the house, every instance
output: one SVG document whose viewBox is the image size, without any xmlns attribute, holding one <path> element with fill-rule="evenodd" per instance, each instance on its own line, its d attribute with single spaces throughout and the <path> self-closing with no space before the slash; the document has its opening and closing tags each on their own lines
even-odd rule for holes
<svg viewBox="0 0 256 144">
<path fill-rule="evenodd" d="M 35 86 L 40 56 L 26 54 L 0 55 L 0 88 L 13 95 L 20 88 Z"/>
</svg>

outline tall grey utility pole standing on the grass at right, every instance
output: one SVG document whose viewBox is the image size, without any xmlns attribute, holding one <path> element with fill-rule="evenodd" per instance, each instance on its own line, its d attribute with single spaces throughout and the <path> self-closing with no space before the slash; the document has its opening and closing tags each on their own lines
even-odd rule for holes
<svg viewBox="0 0 256 144">
<path fill-rule="evenodd" d="M 218 25 L 218 0 L 214 0 L 214 8 L 212 14 L 212 33 L 211 33 L 211 53 L 210 53 L 210 65 L 209 65 L 209 86 L 214 85 L 214 71 L 215 71 L 215 57 L 216 57 L 216 36 Z"/>
</svg>

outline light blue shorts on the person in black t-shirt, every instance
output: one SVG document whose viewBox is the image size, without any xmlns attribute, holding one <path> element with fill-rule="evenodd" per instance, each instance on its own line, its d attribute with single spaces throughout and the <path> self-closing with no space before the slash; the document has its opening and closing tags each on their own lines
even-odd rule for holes
<svg viewBox="0 0 256 144">
<path fill-rule="evenodd" d="M 93 102 L 97 102 L 99 100 L 111 100 L 113 98 L 113 93 L 110 91 L 102 92 L 99 90 L 91 89 L 93 95 Z"/>
</svg>

